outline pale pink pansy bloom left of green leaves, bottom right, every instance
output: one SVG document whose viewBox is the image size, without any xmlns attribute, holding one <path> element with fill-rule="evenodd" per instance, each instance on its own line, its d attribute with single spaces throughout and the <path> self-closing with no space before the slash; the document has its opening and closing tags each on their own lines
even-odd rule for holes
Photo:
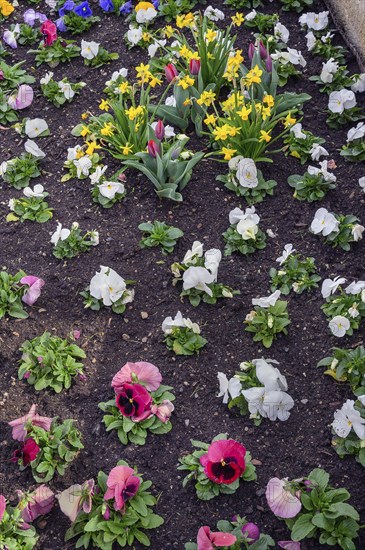
<svg viewBox="0 0 365 550">
<path fill-rule="evenodd" d="M 266 500 L 271 511 L 279 518 L 294 518 L 302 508 L 300 499 L 293 494 L 287 479 L 270 479 L 266 487 Z"/>
</svg>

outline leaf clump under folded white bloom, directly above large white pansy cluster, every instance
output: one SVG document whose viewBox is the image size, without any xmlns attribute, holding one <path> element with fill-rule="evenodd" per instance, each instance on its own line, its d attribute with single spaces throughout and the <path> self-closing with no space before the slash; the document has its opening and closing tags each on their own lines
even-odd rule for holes
<svg viewBox="0 0 365 550">
<path fill-rule="evenodd" d="M 268 308 L 255 306 L 245 319 L 247 332 L 254 334 L 254 342 L 262 342 L 265 348 L 270 348 L 277 334 L 288 334 L 286 327 L 290 324 L 288 302 L 277 300 L 274 306 Z"/>
</svg>

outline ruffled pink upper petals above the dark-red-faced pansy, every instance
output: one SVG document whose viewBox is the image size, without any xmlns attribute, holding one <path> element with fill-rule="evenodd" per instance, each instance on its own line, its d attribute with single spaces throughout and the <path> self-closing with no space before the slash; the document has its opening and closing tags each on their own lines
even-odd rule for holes
<svg viewBox="0 0 365 550">
<path fill-rule="evenodd" d="M 160 371 L 152 363 L 139 361 L 138 363 L 126 363 L 112 380 L 115 393 L 120 393 L 125 383 L 139 382 L 148 391 L 156 391 L 160 386 L 162 376 Z"/>
</svg>

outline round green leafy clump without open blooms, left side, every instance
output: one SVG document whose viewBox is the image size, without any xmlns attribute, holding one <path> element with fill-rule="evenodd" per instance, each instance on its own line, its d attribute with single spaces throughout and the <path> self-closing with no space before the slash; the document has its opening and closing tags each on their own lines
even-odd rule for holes
<svg viewBox="0 0 365 550">
<path fill-rule="evenodd" d="M 23 342 L 20 351 L 18 378 L 24 379 L 30 373 L 27 382 L 39 391 L 52 388 L 56 393 L 69 389 L 73 378 L 83 374 L 83 364 L 78 359 L 85 359 L 85 352 L 59 336 L 44 332 L 33 340 Z"/>
</svg>

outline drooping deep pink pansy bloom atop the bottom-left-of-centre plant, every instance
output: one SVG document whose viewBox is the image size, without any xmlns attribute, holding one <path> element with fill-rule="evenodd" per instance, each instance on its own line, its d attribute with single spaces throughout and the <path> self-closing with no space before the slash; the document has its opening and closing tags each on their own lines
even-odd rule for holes
<svg viewBox="0 0 365 550">
<path fill-rule="evenodd" d="M 109 474 L 106 482 L 108 489 L 104 500 L 114 499 L 114 509 L 124 512 L 125 504 L 134 497 L 141 484 L 141 479 L 134 475 L 133 468 L 116 466 Z"/>
</svg>

